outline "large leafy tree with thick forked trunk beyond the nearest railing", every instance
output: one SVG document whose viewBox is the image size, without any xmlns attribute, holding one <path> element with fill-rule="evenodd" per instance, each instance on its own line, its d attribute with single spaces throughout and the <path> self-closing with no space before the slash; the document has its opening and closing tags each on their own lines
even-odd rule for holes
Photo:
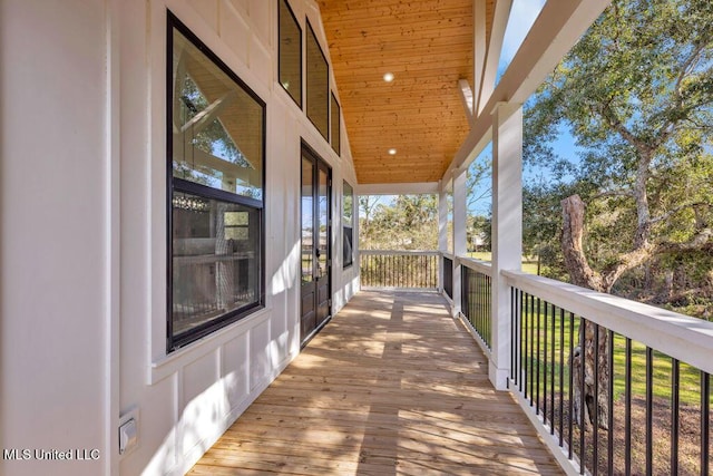
<svg viewBox="0 0 713 476">
<path fill-rule="evenodd" d="M 584 150 L 575 174 L 584 193 L 561 201 L 561 250 L 575 284 L 611 292 L 662 255 L 713 251 L 712 105 L 710 0 L 615 0 L 557 67 L 528 109 L 526 152 L 561 165 L 543 139 L 563 124 Z M 611 223 L 594 261 L 585 240 L 592 212 Z M 590 328 L 580 336 L 580 378 L 606 382 L 607 336 L 597 340 Z M 588 391 L 606 426 L 606 396 Z"/>
</svg>

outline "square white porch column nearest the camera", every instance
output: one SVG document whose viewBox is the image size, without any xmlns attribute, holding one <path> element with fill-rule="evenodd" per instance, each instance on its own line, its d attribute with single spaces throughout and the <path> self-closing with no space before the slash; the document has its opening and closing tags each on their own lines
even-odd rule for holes
<svg viewBox="0 0 713 476">
<path fill-rule="evenodd" d="M 510 368 L 510 294 L 502 270 L 522 260 L 522 106 L 492 111 L 492 348 L 489 377 L 505 390 Z"/>
</svg>

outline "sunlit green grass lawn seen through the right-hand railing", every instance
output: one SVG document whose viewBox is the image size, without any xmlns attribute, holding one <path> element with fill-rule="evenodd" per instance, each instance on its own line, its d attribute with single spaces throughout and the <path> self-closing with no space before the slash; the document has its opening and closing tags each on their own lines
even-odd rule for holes
<svg viewBox="0 0 713 476">
<path fill-rule="evenodd" d="M 490 259 L 489 253 L 470 253 L 472 258 L 487 261 Z M 536 272 L 537 264 L 522 260 L 522 268 L 526 272 Z M 470 288 L 469 313 L 476 318 L 471 323 L 478 330 L 479 334 L 486 340 L 490 337 L 489 301 L 478 299 L 486 295 L 487 289 L 480 285 L 480 281 Z M 525 302 L 527 301 L 527 302 Z M 570 387 L 577 386 L 577 382 L 569 383 L 570 379 L 570 346 L 576 347 L 579 343 L 579 327 L 583 319 L 572 317 L 570 313 L 561 311 L 559 308 L 546 304 L 539 299 L 527 299 L 522 302 L 522 323 L 515 331 L 514 346 L 519 346 L 522 356 L 516 368 L 519 367 L 518 387 L 522 387 L 533 406 L 538 407 L 539 415 L 548 420 L 554 428 L 559 427 L 563 435 L 572 438 L 574 453 L 586 460 L 586 466 L 590 467 L 594 460 L 593 431 L 582 431 L 577 424 L 574 427 L 574 415 L 572 409 L 576 392 L 573 388 L 572 399 L 569 396 Z M 472 309 L 472 312 L 470 310 Z M 482 318 L 482 315 L 486 315 Z M 572 322 L 572 329 L 570 329 Z M 589 328 L 593 323 L 587 322 Z M 600 328 L 599 332 L 607 332 Z M 519 336 L 518 336 L 519 334 Z M 524 349 L 527 341 L 527 350 Z M 627 349 L 626 338 L 624 336 L 614 334 L 613 341 L 609 342 L 609 349 L 613 357 L 613 367 L 609 369 L 611 381 L 613 383 L 613 402 L 608 406 L 609 416 L 613 418 L 613 448 L 614 448 L 614 474 L 624 474 L 625 448 L 631 450 L 632 467 L 644 468 L 646 466 L 646 451 L 644 444 L 647 438 L 646 419 L 652 418 L 652 440 L 653 440 L 653 459 L 654 466 L 660 468 L 658 474 L 673 474 L 670 470 L 671 460 L 671 421 L 672 407 L 674 401 L 674 391 L 672 390 L 672 359 L 661 352 L 652 352 L 652 394 L 649 400 L 651 414 L 648 414 L 647 397 L 647 373 L 646 366 L 647 349 L 641 342 L 631 342 L 631 379 L 627 379 Z M 535 349 L 535 350 L 533 350 Z M 525 367 L 527 366 L 527 370 Z M 701 371 L 687 363 L 680 363 L 680 381 L 678 381 L 678 460 L 677 468 L 681 474 L 699 474 L 700 473 L 700 431 L 701 417 L 703 414 L 701 398 Z M 628 380 L 628 383 L 627 383 Z M 632 405 L 627 407 L 625 404 L 625 395 L 628 390 L 632 396 Z M 608 388 L 600 391 L 607 392 Z M 710 405 L 713 406 L 713 395 L 710 397 Z M 561 410 L 560 410 L 561 408 Z M 599 418 L 604 418 L 599 414 Z M 590 416 L 593 417 L 593 416 Z M 603 421 L 602 419 L 599 421 Z M 624 425 L 631 425 L 631 441 L 626 440 Z M 599 431 L 598 440 L 598 468 L 600 474 L 607 472 L 606 455 L 608 451 L 609 434 L 604 430 Z M 586 443 L 585 455 L 582 456 L 580 437 Z M 566 439 L 565 439 L 566 440 Z M 627 446 L 628 445 L 628 446 Z M 636 470 L 636 474 L 639 474 Z M 643 474 L 643 473 L 641 473 Z"/>
</svg>

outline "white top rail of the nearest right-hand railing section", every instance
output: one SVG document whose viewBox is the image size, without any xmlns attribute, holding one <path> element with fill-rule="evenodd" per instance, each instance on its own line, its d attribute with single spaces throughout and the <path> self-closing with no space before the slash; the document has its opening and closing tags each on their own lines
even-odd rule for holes
<svg viewBox="0 0 713 476">
<path fill-rule="evenodd" d="M 502 275 L 511 286 L 713 373 L 713 322 L 548 278 Z"/>
</svg>

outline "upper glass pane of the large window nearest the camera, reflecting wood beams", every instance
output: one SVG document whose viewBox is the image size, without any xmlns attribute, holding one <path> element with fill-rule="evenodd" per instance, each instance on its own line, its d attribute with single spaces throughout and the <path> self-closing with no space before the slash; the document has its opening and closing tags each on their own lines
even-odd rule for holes
<svg viewBox="0 0 713 476">
<path fill-rule="evenodd" d="M 174 29 L 174 177 L 262 200 L 264 107 Z"/>
</svg>

